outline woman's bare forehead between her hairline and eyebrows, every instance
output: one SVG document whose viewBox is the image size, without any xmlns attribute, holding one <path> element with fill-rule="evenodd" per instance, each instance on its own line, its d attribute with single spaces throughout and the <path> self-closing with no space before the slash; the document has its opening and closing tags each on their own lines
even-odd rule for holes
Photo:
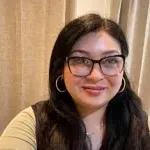
<svg viewBox="0 0 150 150">
<path fill-rule="evenodd" d="M 111 52 L 121 53 L 119 42 L 105 31 L 90 32 L 82 36 L 74 44 L 72 52 L 76 50 L 83 50 L 91 56 Z"/>
</svg>

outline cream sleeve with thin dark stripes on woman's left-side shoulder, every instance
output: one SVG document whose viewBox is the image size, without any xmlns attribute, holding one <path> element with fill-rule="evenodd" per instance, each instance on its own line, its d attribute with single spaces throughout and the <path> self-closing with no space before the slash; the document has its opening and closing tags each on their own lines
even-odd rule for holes
<svg viewBox="0 0 150 150">
<path fill-rule="evenodd" d="M 28 107 L 8 124 L 0 137 L 0 149 L 36 149 L 35 126 L 33 109 Z"/>
</svg>

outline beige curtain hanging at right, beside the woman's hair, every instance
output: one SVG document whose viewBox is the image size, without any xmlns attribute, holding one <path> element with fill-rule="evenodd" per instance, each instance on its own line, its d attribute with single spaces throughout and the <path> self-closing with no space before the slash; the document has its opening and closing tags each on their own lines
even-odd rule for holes
<svg viewBox="0 0 150 150">
<path fill-rule="evenodd" d="M 150 1 L 111 0 L 110 5 L 110 18 L 122 26 L 128 39 L 128 75 L 150 115 Z"/>
</svg>

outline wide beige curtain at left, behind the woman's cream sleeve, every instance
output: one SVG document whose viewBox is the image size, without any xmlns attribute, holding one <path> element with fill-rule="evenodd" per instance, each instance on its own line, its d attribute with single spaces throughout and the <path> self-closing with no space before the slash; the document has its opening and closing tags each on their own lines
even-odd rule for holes
<svg viewBox="0 0 150 150">
<path fill-rule="evenodd" d="M 0 133 L 20 110 L 48 98 L 51 50 L 73 15 L 72 5 L 66 0 L 0 0 Z"/>
</svg>

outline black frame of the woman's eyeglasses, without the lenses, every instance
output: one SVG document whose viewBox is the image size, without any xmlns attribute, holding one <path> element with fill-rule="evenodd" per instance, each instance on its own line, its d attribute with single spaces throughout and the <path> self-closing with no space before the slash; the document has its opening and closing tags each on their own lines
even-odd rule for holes
<svg viewBox="0 0 150 150">
<path fill-rule="evenodd" d="M 93 60 L 93 59 L 90 59 L 90 58 L 87 58 L 87 57 L 69 56 L 69 57 L 66 57 L 66 62 L 67 62 L 67 64 L 68 64 L 68 68 L 69 68 L 69 70 L 70 70 L 71 73 L 72 73 L 72 71 L 71 71 L 71 69 L 70 69 L 70 64 L 69 64 L 69 61 L 70 61 L 71 59 L 83 58 L 83 59 L 88 59 L 88 60 L 90 60 L 90 61 L 92 62 L 92 67 L 91 67 L 91 71 L 89 72 L 89 74 L 87 74 L 87 75 L 85 75 L 85 76 L 80 76 L 80 75 L 75 75 L 75 74 L 72 73 L 74 76 L 77 76 L 77 77 L 87 77 L 87 76 L 89 76 L 89 75 L 91 74 L 91 72 L 93 71 L 94 64 L 96 64 L 96 63 L 99 64 L 100 69 L 101 69 L 101 72 L 102 72 L 104 75 L 106 75 L 106 76 L 114 76 L 114 75 L 105 74 L 105 73 L 103 72 L 102 67 L 101 67 L 101 62 L 102 62 L 102 60 L 107 59 L 107 58 L 111 58 L 111 57 L 121 57 L 121 58 L 123 59 L 123 67 L 122 67 L 122 70 L 120 71 L 120 73 L 121 73 L 121 72 L 123 71 L 123 69 L 124 69 L 124 66 L 125 66 L 125 58 L 126 58 L 125 55 L 112 55 L 112 56 L 103 57 L 103 58 L 101 58 L 100 60 Z"/>
</svg>

